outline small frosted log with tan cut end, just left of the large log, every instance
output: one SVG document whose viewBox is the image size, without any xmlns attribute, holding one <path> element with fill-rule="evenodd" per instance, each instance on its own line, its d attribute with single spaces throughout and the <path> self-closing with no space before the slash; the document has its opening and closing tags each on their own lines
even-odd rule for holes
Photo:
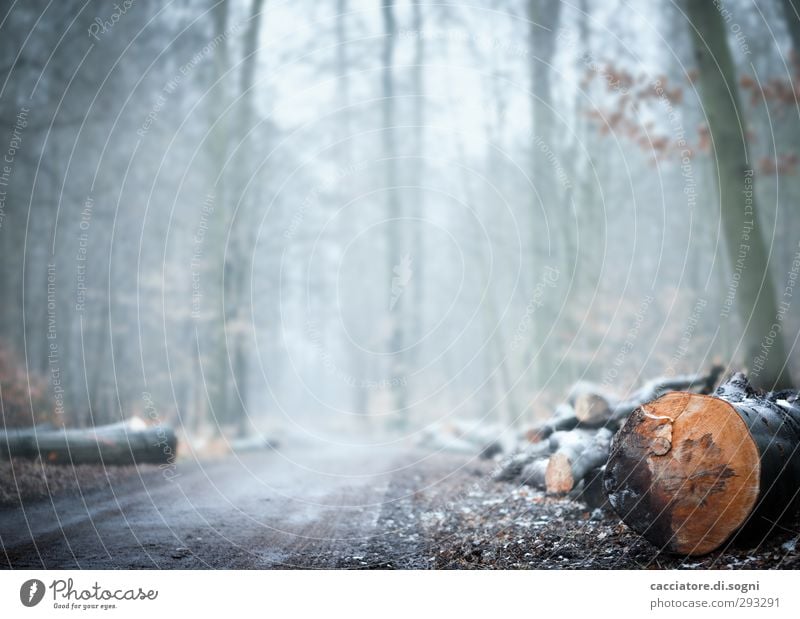
<svg viewBox="0 0 800 619">
<path fill-rule="evenodd" d="M 597 430 L 591 437 L 564 441 L 550 456 L 545 475 L 547 491 L 553 494 L 570 492 L 591 470 L 603 466 L 608 459 L 613 433 L 608 428 Z"/>
</svg>

